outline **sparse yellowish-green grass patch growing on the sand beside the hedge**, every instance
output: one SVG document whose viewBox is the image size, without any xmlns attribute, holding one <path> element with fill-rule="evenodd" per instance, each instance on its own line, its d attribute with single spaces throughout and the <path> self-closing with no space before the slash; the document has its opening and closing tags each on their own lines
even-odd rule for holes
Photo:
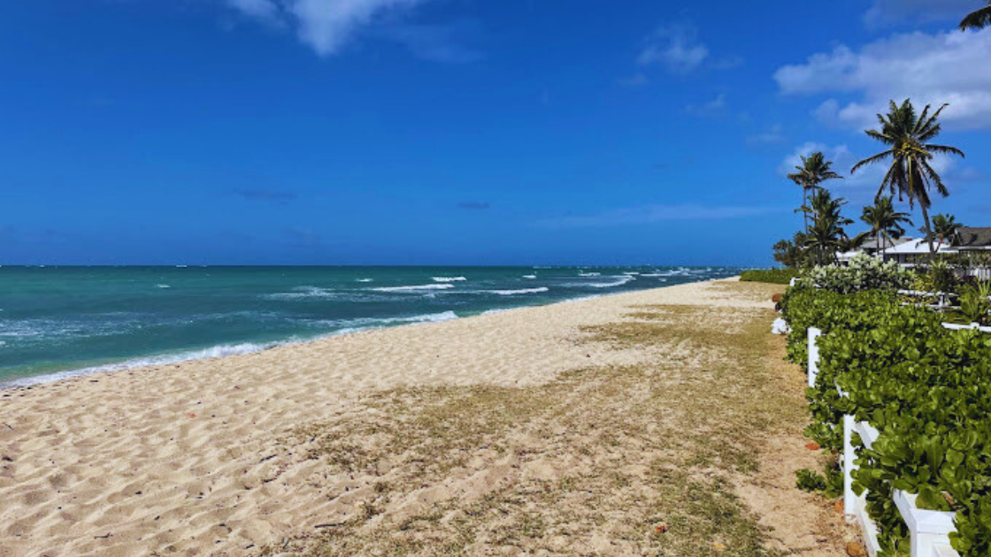
<svg viewBox="0 0 991 557">
<path fill-rule="evenodd" d="M 287 442 L 347 486 L 328 499 L 352 510 L 293 547 L 321 557 L 775 556 L 731 487 L 757 470 L 762 439 L 805 419 L 769 371 L 772 319 L 631 307 L 581 342 L 664 357 L 538 387 L 380 392 L 362 411 L 300 428 Z"/>
</svg>

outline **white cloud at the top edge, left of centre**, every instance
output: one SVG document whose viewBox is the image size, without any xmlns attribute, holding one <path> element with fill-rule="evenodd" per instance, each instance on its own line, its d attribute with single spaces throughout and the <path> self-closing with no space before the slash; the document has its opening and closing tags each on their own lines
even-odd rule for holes
<svg viewBox="0 0 991 557">
<path fill-rule="evenodd" d="M 299 40 L 320 56 L 337 54 L 358 31 L 390 12 L 412 9 L 426 0 L 225 0 L 246 16 L 288 25 Z M 466 61 L 468 51 L 445 42 L 443 27 L 393 27 L 392 40 L 417 56 L 439 61 Z"/>
</svg>

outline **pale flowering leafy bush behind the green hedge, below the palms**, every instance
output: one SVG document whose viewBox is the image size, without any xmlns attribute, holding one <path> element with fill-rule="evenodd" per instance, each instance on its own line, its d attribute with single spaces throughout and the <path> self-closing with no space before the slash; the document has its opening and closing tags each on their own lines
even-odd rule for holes
<svg viewBox="0 0 991 557">
<path fill-rule="evenodd" d="M 898 290 L 912 284 L 912 274 L 893 261 L 882 263 L 870 256 L 859 255 L 847 267 L 827 265 L 816 267 L 802 278 L 807 286 L 841 294 L 861 290 Z"/>
</svg>

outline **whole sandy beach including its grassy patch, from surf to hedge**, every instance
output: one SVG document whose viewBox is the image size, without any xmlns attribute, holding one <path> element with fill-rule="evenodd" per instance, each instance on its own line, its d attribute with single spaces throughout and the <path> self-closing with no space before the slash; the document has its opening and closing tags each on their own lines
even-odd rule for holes
<svg viewBox="0 0 991 557">
<path fill-rule="evenodd" d="M 817 457 L 773 291 L 684 284 L 0 391 L 0 555 L 841 555 L 841 517 L 794 487 Z M 636 404 L 655 413 L 624 421 Z M 734 518 L 678 531 L 684 505 L 650 501 L 682 484 L 671 501 L 716 490 Z"/>
</svg>

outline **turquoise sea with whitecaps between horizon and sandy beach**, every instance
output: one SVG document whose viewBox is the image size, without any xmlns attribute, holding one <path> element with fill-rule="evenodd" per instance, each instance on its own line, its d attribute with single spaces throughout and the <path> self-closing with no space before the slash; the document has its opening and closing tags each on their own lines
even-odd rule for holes
<svg viewBox="0 0 991 557">
<path fill-rule="evenodd" d="M 735 275 L 731 268 L 0 268 L 0 385 Z"/>
</svg>

